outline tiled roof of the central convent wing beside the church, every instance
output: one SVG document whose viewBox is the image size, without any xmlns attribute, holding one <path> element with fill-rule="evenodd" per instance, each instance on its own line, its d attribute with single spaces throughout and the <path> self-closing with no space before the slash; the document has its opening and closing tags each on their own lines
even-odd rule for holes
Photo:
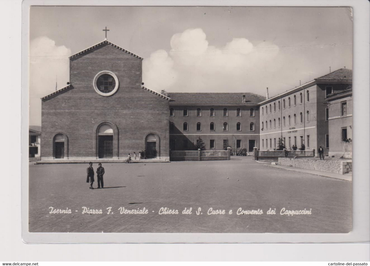
<svg viewBox="0 0 370 266">
<path fill-rule="evenodd" d="M 183 93 L 183 92 L 169 92 L 168 97 L 171 98 L 171 103 L 183 103 L 183 104 L 200 104 L 200 103 L 211 103 L 211 104 L 240 104 L 243 103 L 243 95 L 245 95 L 245 103 L 259 103 L 266 100 L 265 97 L 250 93 L 250 92 L 228 92 L 228 93 Z"/>
</svg>

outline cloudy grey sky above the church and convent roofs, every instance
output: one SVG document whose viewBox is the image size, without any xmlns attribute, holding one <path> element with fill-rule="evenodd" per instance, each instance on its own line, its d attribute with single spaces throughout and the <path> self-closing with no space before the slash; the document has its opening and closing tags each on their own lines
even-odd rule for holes
<svg viewBox="0 0 370 266">
<path fill-rule="evenodd" d="M 68 7 L 30 9 L 30 125 L 41 97 L 69 81 L 69 59 L 105 38 L 144 58 L 160 92 L 269 96 L 352 68 L 347 7 Z"/>
</svg>

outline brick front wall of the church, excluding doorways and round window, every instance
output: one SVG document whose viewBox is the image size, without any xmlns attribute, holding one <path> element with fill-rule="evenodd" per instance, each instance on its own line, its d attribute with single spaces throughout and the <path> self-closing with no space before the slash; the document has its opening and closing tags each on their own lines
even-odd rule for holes
<svg viewBox="0 0 370 266">
<path fill-rule="evenodd" d="M 101 96 L 93 80 L 100 71 L 111 71 L 119 80 L 118 91 Z M 68 137 L 65 158 L 96 158 L 97 127 L 110 122 L 114 132 L 114 158 L 138 154 L 145 149 L 145 136 L 154 133 L 157 157 L 168 157 L 168 100 L 141 88 L 142 60 L 104 43 L 70 59 L 71 89 L 42 102 L 41 157 L 53 158 L 53 138 Z M 67 141 L 65 141 L 67 142 Z"/>
</svg>

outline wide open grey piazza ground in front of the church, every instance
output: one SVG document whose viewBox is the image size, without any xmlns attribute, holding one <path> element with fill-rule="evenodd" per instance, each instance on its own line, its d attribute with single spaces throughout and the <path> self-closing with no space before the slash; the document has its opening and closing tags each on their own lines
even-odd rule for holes
<svg viewBox="0 0 370 266">
<path fill-rule="evenodd" d="M 31 164 L 29 231 L 351 231 L 349 181 L 266 167 L 252 157 L 233 157 L 230 161 L 102 163 L 105 188 L 94 190 L 86 183 L 88 164 Z M 96 172 L 98 165 L 93 167 Z M 96 181 L 95 174 L 94 188 Z M 50 207 L 54 211 L 70 211 L 50 213 Z M 101 209 L 102 214 L 83 214 L 83 207 L 90 212 Z M 145 212 L 144 208 L 146 214 L 121 214 L 134 209 Z M 182 214 L 185 208 L 192 208 L 192 213 Z M 208 214 L 210 208 L 215 212 L 225 210 L 225 214 Z M 276 208 L 276 214 L 267 214 L 270 208 Z M 311 214 L 281 215 L 282 208 L 311 209 Z M 241 214 L 242 210 L 257 213 L 258 209 L 263 214 Z M 178 210 L 179 214 L 160 214 L 167 210 Z"/>
</svg>

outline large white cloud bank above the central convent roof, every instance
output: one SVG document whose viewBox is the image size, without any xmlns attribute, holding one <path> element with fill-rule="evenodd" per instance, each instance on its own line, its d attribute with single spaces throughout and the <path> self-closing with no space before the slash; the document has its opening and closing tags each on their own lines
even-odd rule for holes
<svg viewBox="0 0 370 266">
<path fill-rule="evenodd" d="M 253 45 L 246 38 L 233 38 L 217 48 L 209 45 L 201 28 L 196 28 L 174 34 L 170 44 L 169 54 L 159 50 L 144 60 L 143 80 L 153 89 L 255 92 L 260 89 L 256 88 L 260 78 L 278 69 L 273 60 L 279 48 L 271 42 Z M 166 72 L 171 82 L 162 80 Z"/>
</svg>

